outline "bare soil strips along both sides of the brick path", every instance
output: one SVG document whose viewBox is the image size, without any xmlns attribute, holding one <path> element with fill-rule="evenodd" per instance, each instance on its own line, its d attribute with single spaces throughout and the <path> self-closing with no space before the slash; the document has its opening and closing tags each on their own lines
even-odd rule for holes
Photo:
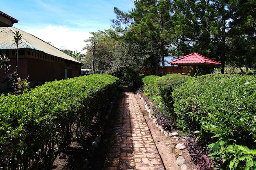
<svg viewBox="0 0 256 170">
<path fill-rule="evenodd" d="M 122 89 L 119 94 L 121 94 Z M 144 108 L 144 104 L 139 99 L 139 96 L 135 95 L 141 110 L 143 110 L 144 117 L 150 128 L 151 135 L 155 141 L 159 154 L 163 160 L 166 170 L 181 170 L 181 167 L 177 165 L 176 160 L 179 154 L 185 159 L 189 170 L 200 170 L 196 166 L 188 153 L 188 151 L 182 150 L 181 153 L 173 152 L 173 143 L 183 143 L 184 139 L 178 137 L 176 139 L 166 138 L 161 135 L 158 128 L 153 124 L 152 120 L 148 117 L 148 113 Z M 109 114 L 98 114 L 94 117 L 88 132 L 83 139 L 72 142 L 61 154 L 56 158 L 53 164 L 52 170 L 103 170 L 106 158 L 106 151 L 108 150 L 108 144 L 110 143 L 110 137 L 112 134 L 112 128 L 115 125 L 115 114 L 118 108 L 118 101 L 120 95 L 117 97 L 115 104 L 113 105 L 112 111 Z M 103 116 L 105 115 L 105 116 Z M 108 115 L 108 116 L 106 116 Z M 108 119 L 107 119 L 108 117 Z M 93 149 L 92 142 L 95 140 L 97 135 L 102 134 L 104 127 L 104 133 L 101 138 L 101 142 L 98 149 Z"/>
</svg>

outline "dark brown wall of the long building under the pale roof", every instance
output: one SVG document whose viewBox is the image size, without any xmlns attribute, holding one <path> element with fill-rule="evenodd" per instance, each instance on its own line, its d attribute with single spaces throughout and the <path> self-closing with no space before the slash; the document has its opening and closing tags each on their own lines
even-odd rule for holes
<svg viewBox="0 0 256 170">
<path fill-rule="evenodd" d="M 11 70 L 16 71 L 16 50 L 3 50 L 0 54 L 6 54 L 10 59 L 9 65 Z M 60 57 L 45 54 L 41 51 L 34 51 L 30 49 L 20 49 L 18 55 L 18 76 L 26 79 L 29 75 L 28 82 L 31 84 L 42 84 L 47 81 L 65 79 L 65 69 L 70 69 L 69 77 L 76 77 L 81 75 L 81 65 L 64 60 Z M 1 76 L 4 75 L 0 69 Z M 32 85 L 33 86 L 33 85 Z"/>
</svg>

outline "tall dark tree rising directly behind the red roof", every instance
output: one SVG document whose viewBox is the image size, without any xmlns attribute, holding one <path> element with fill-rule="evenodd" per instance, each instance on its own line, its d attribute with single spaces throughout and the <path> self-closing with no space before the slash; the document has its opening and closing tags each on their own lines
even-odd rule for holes
<svg viewBox="0 0 256 170">
<path fill-rule="evenodd" d="M 191 52 L 198 52 L 222 63 L 224 73 L 228 56 L 227 31 L 231 2 L 229 0 L 177 0 L 186 20 L 191 21 Z M 191 34 L 190 34 L 191 35 Z"/>
</svg>

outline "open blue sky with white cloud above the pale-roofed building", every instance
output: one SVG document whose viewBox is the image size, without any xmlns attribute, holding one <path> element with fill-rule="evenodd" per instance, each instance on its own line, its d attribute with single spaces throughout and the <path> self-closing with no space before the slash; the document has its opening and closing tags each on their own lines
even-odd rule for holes
<svg viewBox="0 0 256 170">
<path fill-rule="evenodd" d="M 114 7 L 134 8 L 132 0 L 4 0 L 0 11 L 18 20 L 13 24 L 58 49 L 82 51 L 90 32 L 111 28 Z"/>
</svg>

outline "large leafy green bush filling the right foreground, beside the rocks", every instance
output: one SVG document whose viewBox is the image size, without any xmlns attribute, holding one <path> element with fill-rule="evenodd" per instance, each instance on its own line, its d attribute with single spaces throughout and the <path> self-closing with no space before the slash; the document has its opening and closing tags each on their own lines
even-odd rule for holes
<svg viewBox="0 0 256 170">
<path fill-rule="evenodd" d="M 199 130 L 214 161 L 223 161 L 227 169 L 256 168 L 254 76 L 195 77 L 175 88 L 173 99 L 179 126 Z"/>
</svg>

